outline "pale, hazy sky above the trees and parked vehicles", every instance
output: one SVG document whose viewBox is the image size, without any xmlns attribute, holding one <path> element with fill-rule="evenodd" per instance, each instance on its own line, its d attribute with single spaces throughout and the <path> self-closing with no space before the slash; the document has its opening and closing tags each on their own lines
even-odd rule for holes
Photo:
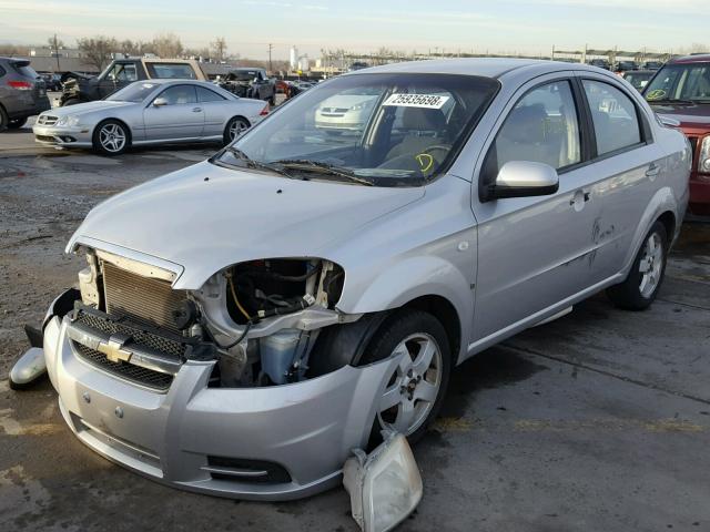
<svg viewBox="0 0 710 532">
<path fill-rule="evenodd" d="M 215 37 L 242 57 L 318 57 L 322 48 L 358 52 L 457 50 L 549 53 L 613 48 L 670 51 L 710 44 L 709 0 L 0 0 L 0 42 L 67 44 L 105 34 L 150 40 L 173 32 L 201 48 Z"/>
</svg>

